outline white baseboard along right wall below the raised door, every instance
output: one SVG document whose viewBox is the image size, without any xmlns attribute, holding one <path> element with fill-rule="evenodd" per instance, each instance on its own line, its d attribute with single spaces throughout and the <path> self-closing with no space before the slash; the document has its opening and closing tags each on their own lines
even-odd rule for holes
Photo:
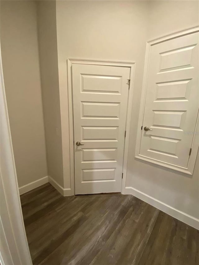
<svg viewBox="0 0 199 265">
<path fill-rule="evenodd" d="M 173 216 L 174 218 L 186 223 L 199 230 L 199 219 L 192 217 L 191 215 L 181 212 L 166 203 L 163 203 L 143 192 L 132 187 L 125 187 L 123 194 L 132 194 L 133 196 L 141 199 L 142 201 L 149 203 L 150 205 L 158 208 L 159 210 Z"/>
</svg>

